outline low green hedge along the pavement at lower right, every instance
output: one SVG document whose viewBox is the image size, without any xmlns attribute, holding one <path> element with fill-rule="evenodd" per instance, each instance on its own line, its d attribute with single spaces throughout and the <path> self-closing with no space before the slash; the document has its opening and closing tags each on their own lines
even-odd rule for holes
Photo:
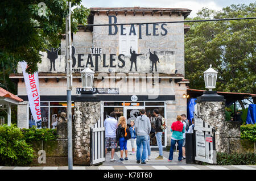
<svg viewBox="0 0 256 181">
<path fill-rule="evenodd" d="M 255 165 L 256 156 L 254 153 L 228 154 L 217 152 L 217 165 Z"/>
</svg>

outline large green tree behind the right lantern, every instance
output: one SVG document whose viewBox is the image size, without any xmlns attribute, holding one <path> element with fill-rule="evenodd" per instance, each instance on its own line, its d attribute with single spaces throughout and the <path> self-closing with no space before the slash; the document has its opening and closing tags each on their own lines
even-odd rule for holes
<svg viewBox="0 0 256 181">
<path fill-rule="evenodd" d="M 221 11 L 204 8 L 193 19 L 255 17 L 256 3 L 231 5 Z M 205 89 L 203 72 L 218 71 L 217 91 L 256 93 L 255 19 L 188 23 L 185 77 L 193 89 Z"/>
</svg>

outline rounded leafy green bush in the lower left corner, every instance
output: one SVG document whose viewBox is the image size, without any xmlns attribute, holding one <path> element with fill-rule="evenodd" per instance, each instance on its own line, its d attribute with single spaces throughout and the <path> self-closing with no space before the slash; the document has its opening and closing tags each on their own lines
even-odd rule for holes
<svg viewBox="0 0 256 181">
<path fill-rule="evenodd" d="M 20 128 L 0 126 L 0 163 L 3 166 L 28 165 L 35 158 L 34 150 L 24 140 Z"/>
</svg>

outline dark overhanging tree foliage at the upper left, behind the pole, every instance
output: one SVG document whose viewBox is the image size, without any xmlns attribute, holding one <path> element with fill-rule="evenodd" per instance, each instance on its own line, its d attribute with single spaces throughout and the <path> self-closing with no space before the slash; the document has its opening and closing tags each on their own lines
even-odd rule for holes
<svg viewBox="0 0 256 181">
<path fill-rule="evenodd" d="M 43 2 L 46 6 L 41 6 Z M 89 10 L 80 6 L 81 0 L 72 0 L 72 30 L 78 23 L 86 24 Z M 45 8 L 44 8 L 45 7 Z M 41 14 L 43 8 L 43 13 Z M 15 71 L 19 61 L 25 60 L 29 73 L 38 70 L 40 50 L 59 47 L 65 33 L 67 0 L 2 0 L 0 2 L 0 65 L 1 69 Z"/>
</svg>

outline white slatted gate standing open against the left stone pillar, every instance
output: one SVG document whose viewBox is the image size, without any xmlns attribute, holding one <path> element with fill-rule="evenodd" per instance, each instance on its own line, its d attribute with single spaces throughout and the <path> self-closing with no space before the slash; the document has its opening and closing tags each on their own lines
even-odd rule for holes
<svg viewBox="0 0 256 181">
<path fill-rule="evenodd" d="M 90 128 L 90 165 L 105 162 L 105 127 L 104 120 L 99 119 Z"/>
</svg>

